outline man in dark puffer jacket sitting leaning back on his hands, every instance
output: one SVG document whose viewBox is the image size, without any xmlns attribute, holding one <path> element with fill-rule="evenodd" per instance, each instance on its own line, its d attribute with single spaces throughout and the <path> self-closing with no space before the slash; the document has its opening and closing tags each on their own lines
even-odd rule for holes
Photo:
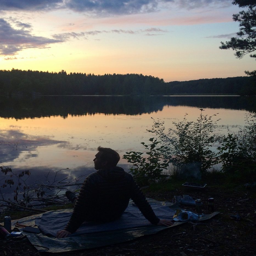
<svg viewBox="0 0 256 256">
<path fill-rule="evenodd" d="M 98 147 L 98 151 L 93 159 L 97 171 L 85 179 L 78 197 L 72 192 L 66 193 L 75 206 L 65 229 L 57 232 L 57 238 L 74 233 L 84 221 L 104 223 L 117 220 L 130 198 L 152 224 L 171 226 L 171 221 L 157 218 L 133 177 L 116 166 L 119 154 L 111 148 Z"/>
</svg>

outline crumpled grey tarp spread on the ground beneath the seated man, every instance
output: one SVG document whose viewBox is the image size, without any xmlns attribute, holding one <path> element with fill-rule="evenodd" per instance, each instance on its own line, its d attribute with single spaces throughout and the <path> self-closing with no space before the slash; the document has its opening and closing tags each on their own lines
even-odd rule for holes
<svg viewBox="0 0 256 256">
<path fill-rule="evenodd" d="M 178 206 L 172 205 L 170 202 L 159 202 L 153 199 L 148 199 L 148 201 L 159 218 L 171 220 L 175 210 L 179 208 Z M 47 251 L 54 253 L 89 249 L 130 241 L 137 237 L 154 234 L 163 229 L 172 228 L 184 223 L 176 222 L 171 227 L 152 225 L 139 212 L 138 208 L 130 202 L 124 215 L 117 221 L 105 224 L 92 222 L 83 223 L 72 236 L 61 239 L 55 238 L 54 235 L 58 230 L 63 229 L 71 213 L 72 209 L 49 211 L 16 221 L 24 225 L 38 225 L 42 230 L 40 234 L 26 232 L 23 232 L 23 234 L 27 235 L 30 243 L 32 243 L 39 252 Z M 216 214 L 218 214 L 218 212 L 204 215 L 200 218 L 200 221 L 210 219 Z M 13 221 L 13 223 L 16 221 Z M 20 230 L 22 231 L 22 229 Z"/>
</svg>

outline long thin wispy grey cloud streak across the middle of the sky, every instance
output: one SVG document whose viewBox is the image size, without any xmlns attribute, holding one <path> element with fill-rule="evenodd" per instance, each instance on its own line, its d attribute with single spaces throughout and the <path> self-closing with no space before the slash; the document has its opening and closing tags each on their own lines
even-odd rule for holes
<svg viewBox="0 0 256 256">
<path fill-rule="evenodd" d="M 52 35 L 53 38 L 61 40 L 61 41 L 67 41 L 72 38 L 79 39 L 80 37 L 85 38 L 86 35 L 98 35 L 100 33 L 117 33 L 117 34 L 139 34 L 144 32 L 168 32 L 167 30 L 162 30 L 158 28 L 150 28 L 150 29 L 140 29 L 140 30 L 123 30 L 123 29 L 113 29 L 113 30 L 94 30 L 94 31 L 86 31 L 81 33 L 75 33 L 75 32 L 67 32 L 67 33 L 61 33 L 61 34 L 54 34 Z M 146 34 L 149 35 L 149 34 Z M 156 34 L 160 35 L 160 34 Z"/>
</svg>

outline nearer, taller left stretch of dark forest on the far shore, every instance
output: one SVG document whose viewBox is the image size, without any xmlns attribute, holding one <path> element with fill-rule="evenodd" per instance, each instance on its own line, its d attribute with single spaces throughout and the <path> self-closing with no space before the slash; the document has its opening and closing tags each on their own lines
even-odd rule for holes
<svg viewBox="0 0 256 256">
<path fill-rule="evenodd" d="M 164 89 L 163 79 L 142 74 L 0 71 L 0 92 L 9 95 L 157 95 L 162 94 Z"/>
</svg>

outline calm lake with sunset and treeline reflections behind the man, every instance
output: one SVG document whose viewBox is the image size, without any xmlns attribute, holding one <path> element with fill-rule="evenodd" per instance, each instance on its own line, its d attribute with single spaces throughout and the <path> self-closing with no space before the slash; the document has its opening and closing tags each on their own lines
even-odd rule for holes
<svg viewBox="0 0 256 256">
<path fill-rule="evenodd" d="M 245 115 L 256 111 L 255 97 L 240 96 L 41 96 L 1 98 L 0 163 L 14 172 L 30 170 L 30 182 L 73 179 L 94 171 L 97 147 L 110 147 L 122 157 L 125 152 L 143 151 L 140 142 L 154 119 L 196 120 L 200 108 L 216 119 L 220 133 L 237 129 Z M 121 159 L 119 166 L 130 164 Z M 48 176 L 47 176 L 48 175 Z M 4 176 L 4 175 L 3 175 Z"/>
</svg>

